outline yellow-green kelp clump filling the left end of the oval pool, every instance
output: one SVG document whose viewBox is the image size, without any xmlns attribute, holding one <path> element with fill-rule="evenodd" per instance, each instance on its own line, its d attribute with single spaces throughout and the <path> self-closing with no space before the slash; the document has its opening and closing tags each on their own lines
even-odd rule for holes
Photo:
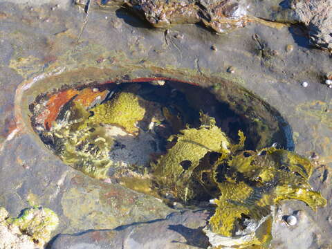
<svg viewBox="0 0 332 249">
<path fill-rule="evenodd" d="M 121 164 L 110 158 L 114 145 L 110 135 L 111 127 L 119 127 L 124 131 L 122 133 L 127 134 L 119 136 L 134 139 L 140 128 L 147 128 L 149 122 L 163 120 L 158 104 L 140 98 L 136 94 L 139 89 L 140 86 L 136 84 L 125 87 L 124 91 L 114 93 L 111 100 L 91 109 L 89 107 L 94 102 L 93 98 L 89 98 L 89 101 L 83 98 L 91 90 L 83 89 L 77 98 L 67 103 L 68 110 L 53 122 L 50 131 L 44 133 L 44 136 L 51 140 L 50 144 L 64 163 L 93 178 L 109 178 L 109 169 L 119 169 Z M 114 173 L 112 170 L 110 174 Z"/>
</svg>

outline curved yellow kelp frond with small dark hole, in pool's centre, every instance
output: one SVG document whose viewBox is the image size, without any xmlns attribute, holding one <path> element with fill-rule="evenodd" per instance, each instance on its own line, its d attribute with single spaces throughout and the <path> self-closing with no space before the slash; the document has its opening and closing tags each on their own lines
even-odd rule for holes
<svg viewBox="0 0 332 249">
<path fill-rule="evenodd" d="M 187 128 L 168 141 L 175 144 L 152 164 L 153 176 L 160 192 L 170 194 L 184 202 L 195 196 L 193 173 L 201 158 L 210 151 L 228 154 L 230 142 L 225 133 L 216 127 L 214 118 L 202 114 L 199 128 Z"/>
</svg>

